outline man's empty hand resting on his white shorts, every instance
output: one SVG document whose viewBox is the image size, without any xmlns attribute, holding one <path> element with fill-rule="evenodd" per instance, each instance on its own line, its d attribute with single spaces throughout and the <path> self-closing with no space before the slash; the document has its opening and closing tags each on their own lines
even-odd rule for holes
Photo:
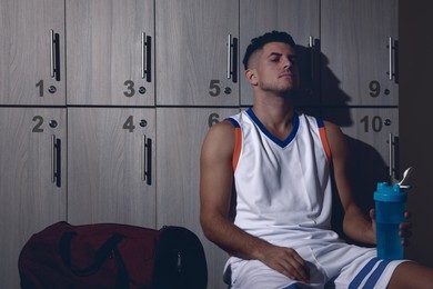
<svg viewBox="0 0 433 289">
<path fill-rule="evenodd" d="M 261 261 L 293 280 L 310 281 L 310 270 L 306 262 L 291 248 L 271 245 Z"/>
</svg>

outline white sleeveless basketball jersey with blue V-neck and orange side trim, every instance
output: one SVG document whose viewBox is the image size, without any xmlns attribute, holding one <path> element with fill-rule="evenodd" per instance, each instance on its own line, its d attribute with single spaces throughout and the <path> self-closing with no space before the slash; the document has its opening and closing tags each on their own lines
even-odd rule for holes
<svg viewBox="0 0 433 289">
<path fill-rule="evenodd" d="M 236 131 L 234 225 L 273 243 L 336 240 L 331 229 L 330 150 L 321 119 L 294 114 L 285 140 L 252 109 L 229 119 Z"/>
</svg>

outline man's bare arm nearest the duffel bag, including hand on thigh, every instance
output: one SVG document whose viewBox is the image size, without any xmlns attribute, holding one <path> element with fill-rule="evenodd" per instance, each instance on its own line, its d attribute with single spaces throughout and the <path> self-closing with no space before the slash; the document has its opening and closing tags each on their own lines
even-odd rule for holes
<svg viewBox="0 0 433 289">
<path fill-rule="evenodd" d="M 230 221 L 233 149 L 232 123 L 214 124 L 204 139 L 200 157 L 200 222 L 204 235 L 232 256 L 260 260 L 289 278 L 308 281 L 308 267 L 296 251 L 273 246 Z"/>
</svg>

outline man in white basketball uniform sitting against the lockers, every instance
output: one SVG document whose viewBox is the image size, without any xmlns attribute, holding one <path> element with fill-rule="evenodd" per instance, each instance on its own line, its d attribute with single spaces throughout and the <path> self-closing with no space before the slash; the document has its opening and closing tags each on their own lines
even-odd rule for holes
<svg viewBox="0 0 433 289">
<path fill-rule="evenodd" d="M 243 63 L 254 106 L 213 126 L 203 142 L 200 220 L 231 256 L 232 288 L 432 288 L 432 269 L 379 260 L 374 248 L 346 245 L 331 230 L 333 170 L 344 232 L 375 243 L 374 211 L 365 217 L 353 200 L 340 128 L 294 110 L 296 61 L 288 33 L 253 39 Z"/>
</svg>

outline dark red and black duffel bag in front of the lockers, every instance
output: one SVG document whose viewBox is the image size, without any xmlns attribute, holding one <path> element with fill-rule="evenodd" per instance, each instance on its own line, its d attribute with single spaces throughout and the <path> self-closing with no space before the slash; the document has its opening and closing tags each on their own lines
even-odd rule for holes
<svg viewBox="0 0 433 289">
<path fill-rule="evenodd" d="M 207 288 L 199 238 L 161 230 L 61 221 L 34 233 L 19 257 L 21 288 Z"/>
</svg>

